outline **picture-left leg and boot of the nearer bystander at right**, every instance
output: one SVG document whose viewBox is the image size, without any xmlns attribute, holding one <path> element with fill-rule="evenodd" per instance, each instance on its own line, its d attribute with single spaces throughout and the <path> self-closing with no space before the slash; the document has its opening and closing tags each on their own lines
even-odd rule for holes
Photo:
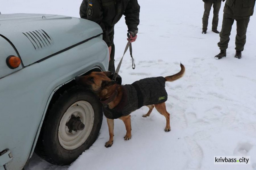
<svg viewBox="0 0 256 170">
<path fill-rule="evenodd" d="M 226 57 L 226 49 L 228 48 L 229 36 L 232 29 L 234 19 L 228 17 L 226 13 L 223 14 L 222 29 L 219 33 L 220 41 L 218 42 L 218 47 L 221 52 L 218 55 L 215 55 L 215 59 L 221 59 Z"/>
</svg>

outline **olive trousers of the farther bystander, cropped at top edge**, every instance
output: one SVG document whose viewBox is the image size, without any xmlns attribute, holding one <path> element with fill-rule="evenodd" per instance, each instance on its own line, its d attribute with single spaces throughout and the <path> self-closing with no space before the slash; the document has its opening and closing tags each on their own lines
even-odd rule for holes
<svg viewBox="0 0 256 170">
<path fill-rule="evenodd" d="M 203 13 L 203 30 L 207 30 L 208 19 L 211 8 L 213 6 L 213 19 L 212 19 L 212 30 L 217 30 L 219 22 L 219 9 L 221 8 L 221 1 L 205 1 L 204 2 L 204 13 Z"/>
</svg>

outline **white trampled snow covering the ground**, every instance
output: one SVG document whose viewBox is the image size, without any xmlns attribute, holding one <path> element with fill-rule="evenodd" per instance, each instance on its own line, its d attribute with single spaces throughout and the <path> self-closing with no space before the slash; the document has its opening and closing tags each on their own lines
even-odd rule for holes
<svg viewBox="0 0 256 170">
<path fill-rule="evenodd" d="M 82 0 L 10 0 L 1 3 L 4 13 L 49 13 L 79 17 Z M 133 45 L 136 69 L 126 54 L 120 75 L 124 84 L 172 75 L 184 64 L 186 73 L 167 82 L 167 111 L 171 131 L 164 132 L 165 118 L 155 109 L 143 118 L 147 107 L 131 114 L 132 139 L 125 141 L 125 126 L 115 120 L 114 144 L 105 148 L 108 126 L 103 119 L 99 138 L 69 168 L 32 157 L 25 170 L 256 170 L 256 16 L 251 17 L 242 59 L 234 58 L 234 23 L 227 57 L 219 53 L 219 35 L 201 34 L 203 2 L 200 0 L 139 0 L 137 41 Z M 219 27 L 223 17 L 222 3 Z M 116 65 L 126 45 L 124 18 L 115 26 Z M 214 165 L 214 156 L 251 156 L 250 165 Z"/>
</svg>

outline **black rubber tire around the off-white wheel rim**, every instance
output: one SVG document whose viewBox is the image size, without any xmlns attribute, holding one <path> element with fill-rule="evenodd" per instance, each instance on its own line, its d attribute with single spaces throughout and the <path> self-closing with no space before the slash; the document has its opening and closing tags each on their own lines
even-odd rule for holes
<svg viewBox="0 0 256 170">
<path fill-rule="evenodd" d="M 61 146 L 58 138 L 60 121 L 67 109 L 77 101 L 87 101 L 93 107 L 93 128 L 90 133 L 88 132 L 88 138 L 80 147 L 73 150 L 67 150 Z M 82 152 L 93 145 L 99 135 L 102 118 L 102 106 L 92 92 L 77 87 L 68 89 L 63 92 L 63 94 L 60 94 L 58 99 L 52 104 L 51 108 L 48 109 L 35 147 L 35 153 L 47 162 L 55 165 L 71 164 L 82 154 Z"/>
</svg>

